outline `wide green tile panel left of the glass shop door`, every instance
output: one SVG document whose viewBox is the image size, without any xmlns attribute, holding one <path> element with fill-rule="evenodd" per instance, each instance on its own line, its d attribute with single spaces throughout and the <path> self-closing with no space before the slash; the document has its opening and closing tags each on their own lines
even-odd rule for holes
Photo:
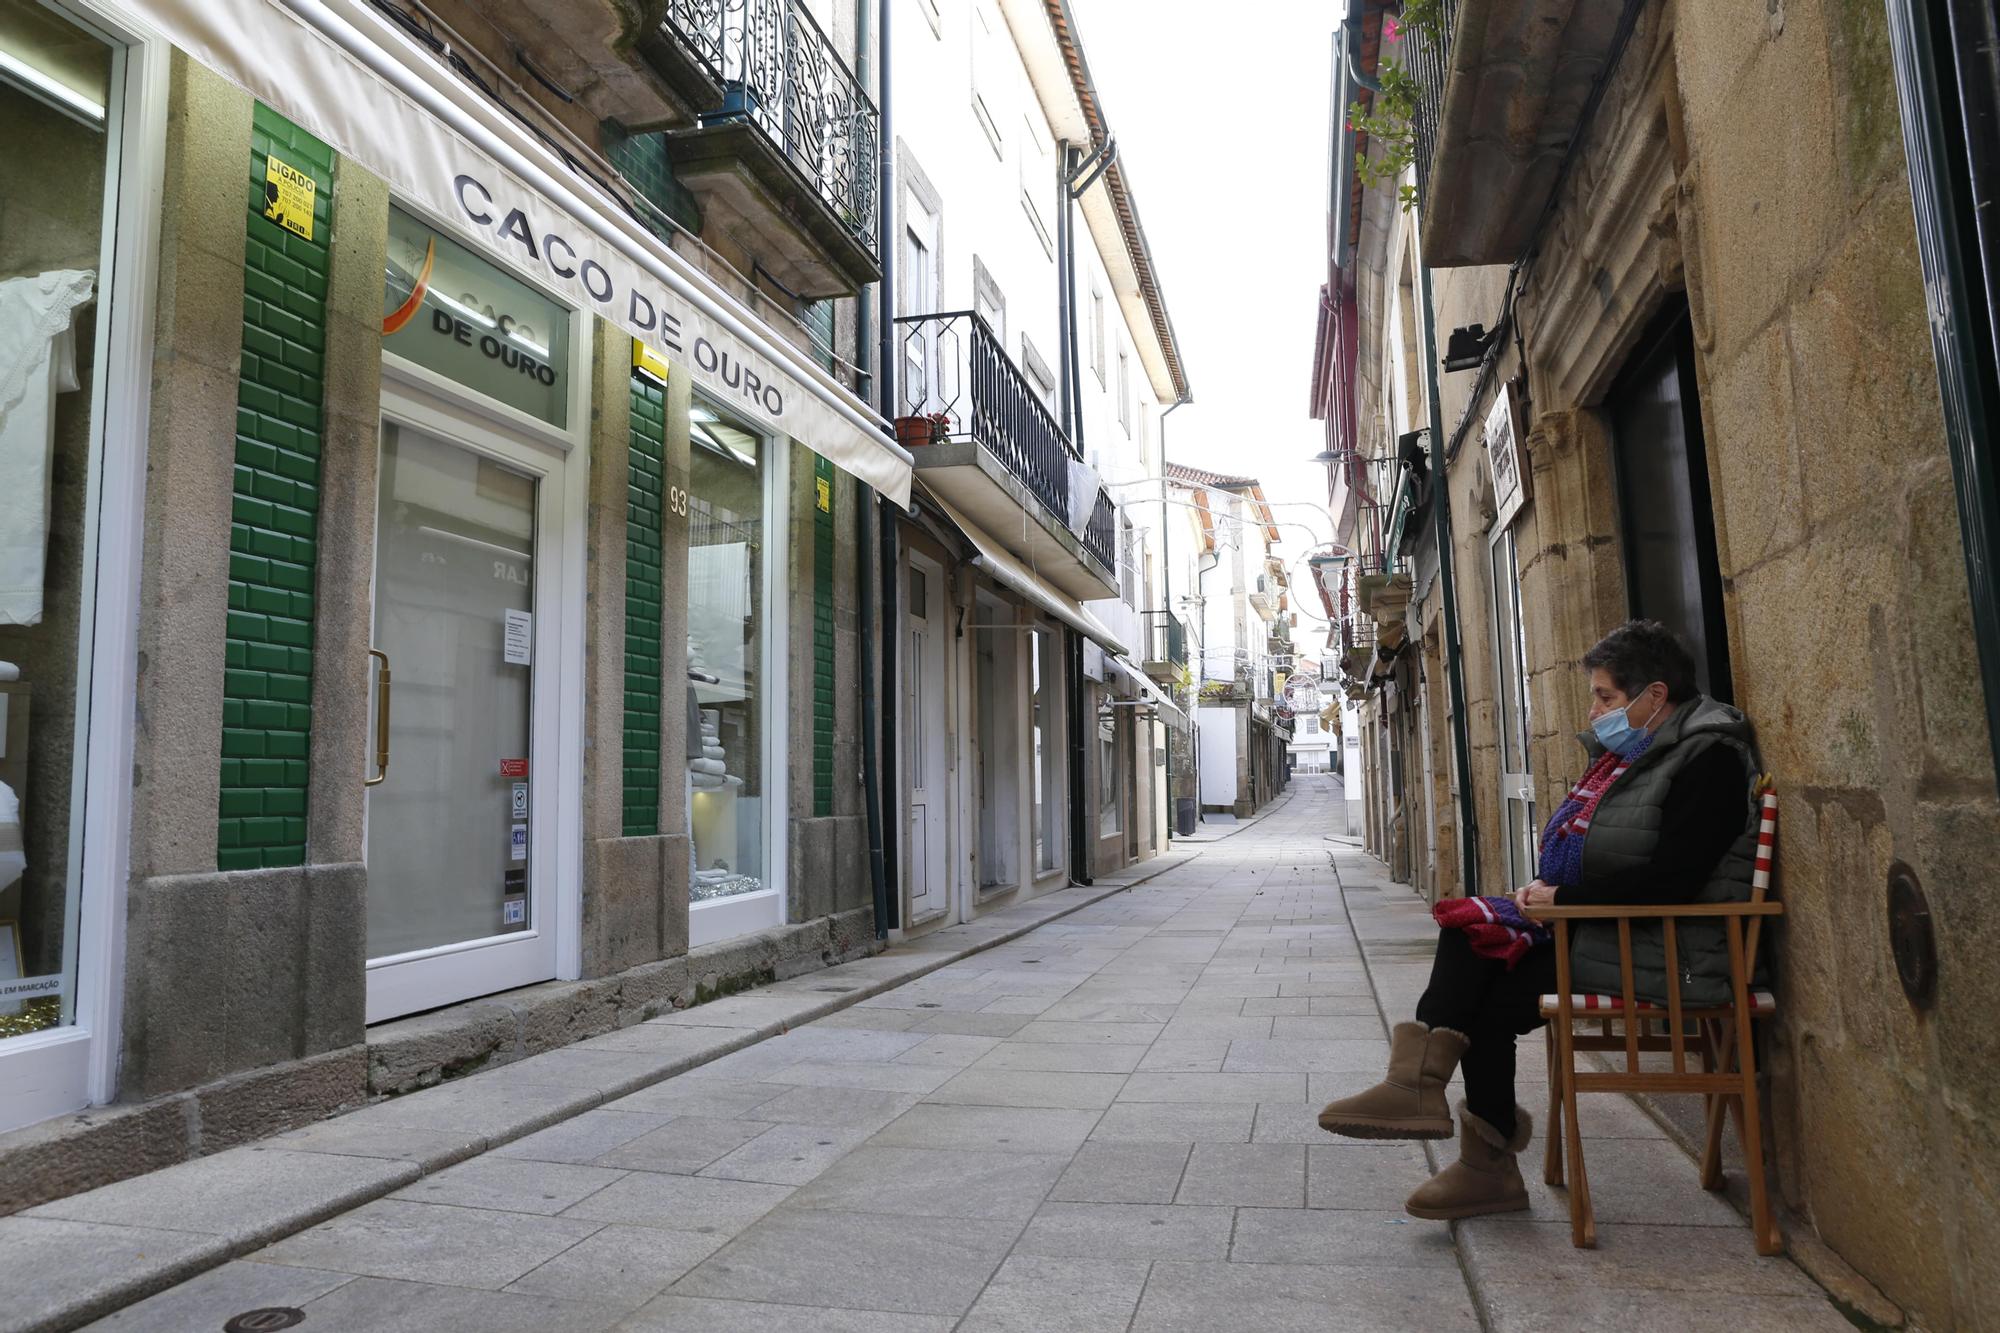
<svg viewBox="0 0 2000 1333">
<path fill-rule="evenodd" d="M 268 154 L 314 178 L 312 240 L 264 218 Z M 334 150 L 268 106 L 252 122 L 248 228 L 222 681 L 224 871 L 306 859 Z"/>
</svg>

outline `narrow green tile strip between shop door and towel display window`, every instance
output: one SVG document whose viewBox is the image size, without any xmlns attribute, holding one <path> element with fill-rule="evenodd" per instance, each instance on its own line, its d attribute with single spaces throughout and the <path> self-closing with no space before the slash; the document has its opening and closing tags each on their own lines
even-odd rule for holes
<svg viewBox="0 0 2000 1333">
<path fill-rule="evenodd" d="M 624 833 L 660 833 L 660 512 L 666 390 L 632 376 L 626 450 Z"/>
</svg>

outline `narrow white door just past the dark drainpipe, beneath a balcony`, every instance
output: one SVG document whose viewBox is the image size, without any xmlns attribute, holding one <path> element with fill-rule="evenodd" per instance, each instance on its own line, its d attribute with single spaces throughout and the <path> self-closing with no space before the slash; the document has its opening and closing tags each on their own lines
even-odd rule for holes
<svg viewBox="0 0 2000 1333">
<path fill-rule="evenodd" d="M 910 837 L 904 845 L 904 881 L 916 923 L 950 903 L 950 727 L 946 723 L 944 568 L 910 554 L 904 580 L 904 773 L 908 779 Z"/>
</svg>

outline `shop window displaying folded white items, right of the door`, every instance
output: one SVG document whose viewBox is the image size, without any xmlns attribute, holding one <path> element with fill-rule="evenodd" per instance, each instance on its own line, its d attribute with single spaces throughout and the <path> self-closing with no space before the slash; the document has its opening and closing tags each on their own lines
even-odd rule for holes
<svg viewBox="0 0 2000 1333">
<path fill-rule="evenodd" d="M 688 897 L 766 887 L 764 452 L 696 404 L 688 450 Z"/>
</svg>

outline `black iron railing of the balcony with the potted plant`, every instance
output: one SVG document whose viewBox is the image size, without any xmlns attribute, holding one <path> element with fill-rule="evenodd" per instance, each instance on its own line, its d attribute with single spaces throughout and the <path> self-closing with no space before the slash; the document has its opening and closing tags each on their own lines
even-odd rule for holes
<svg viewBox="0 0 2000 1333">
<path fill-rule="evenodd" d="M 972 310 L 906 314 L 896 434 L 904 444 L 972 440 L 1006 466 L 1062 526 L 1076 528 L 1070 472 L 1076 446 L 1006 346 Z M 1118 568 L 1118 506 L 1100 486 L 1082 524 L 1084 550 Z"/>
</svg>

